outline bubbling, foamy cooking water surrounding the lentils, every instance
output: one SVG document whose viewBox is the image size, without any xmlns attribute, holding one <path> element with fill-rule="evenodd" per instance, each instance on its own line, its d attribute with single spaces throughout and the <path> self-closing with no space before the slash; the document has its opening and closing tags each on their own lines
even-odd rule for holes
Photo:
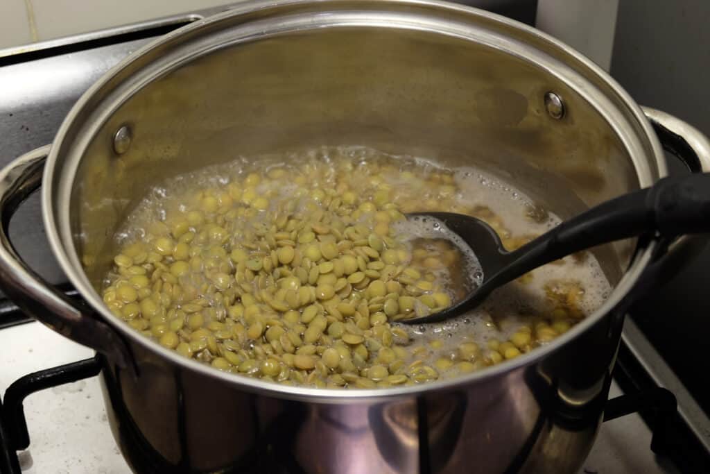
<svg viewBox="0 0 710 474">
<path fill-rule="evenodd" d="M 285 157 L 263 156 L 256 160 L 240 158 L 225 165 L 212 166 L 174 178 L 165 186 L 155 188 L 151 195 L 138 205 L 126 220 L 124 232 L 119 232 L 116 238 L 121 244 L 145 238 L 151 233 L 150 228 L 155 225 L 155 221 L 163 221 L 167 215 L 185 211 L 185 202 L 196 189 L 224 186 L 235 177 L 243 179 L 246 173 L 257 169 L 257 166 L 266 170 L 289 170 L 293 166 L 290 163 L 303 163 L 307 159 L 317 161 L 325 168 L 332 166 L 332 169 L 322 173 L 324 181 L 334 179 L 331 175 L 336 175 L 335 167 L 339 161 L 351 161 L 353 176 L 356 176 L 359 170 L 366 169 L 368 163 L 391 163 L 393 166 L 388 168 L 390 171 L 382 172 L 378 175 L 378 180 L 390 185 L 395 193 L 398 190 L 402 190 L 404 194 L 410 193 L 410 196 L 404 196 L 400 200 L 401 212 L 439 210 L 476 215 L 493 225 L 504 244 L 515 247 L 524 243 L 524 239 L 540 235 L 560 222 L 552 213 L 536 208 L 530 199 L 510 183 L 503 183 L 480 169 L 466 167 L 444 170 L 421 158 L 387 156 L 371 149 L 343 147 L 295 153 Z M 442 171 L 453 176 L 453 184 L 442 187 L 438 194 L 430 193 L 422 177 Z M 299 188 L 300 186 L 293 183 L 280 185 L 278 188 L 274 188 L 273 184 L 263 183 L 256 187 L 256 191 L 258 195 L 270 191 L 278 193 L 280 198 L 272 198 L 271 206 L 279 200 L 289 199 L 295 200 L 296 208 L 299 209 L 308 199 L 307 195 L 298 194 Z M 446 198 L 445 203 L 449 203 L 447 208 L 442 208 L 442 195 Z M 243 219 L 236 227 L 248 232 L 257 230 L 260 225 L 263 225 L 263 222 L 257 217 L 251 220 Z M 473 254 L 461 252 L 460 249 L 466 249 L 466 245 L 441 222 L 432 219 L 409 220 L 397 223 L 393 228 L 395 237 L 408 244 L 412 252 L 416 249 L 424 249 L 427 252 L 435 252 L 436 249 L 457 252 L 452 266 L 434 271 L 435 284 L 441 285 L 447 291 L 452 302 L 474 289 L 484 278 L 475 257 L 475 249 Z M 238 232 L 232 236 L 227 247 L 237 244 L 242 235 L 243 233 Z M 106 286 L 116 281 L 116 277 L 116 273 L 109 274 Z M 562 289 L 556 293 L 555 285 L 559 282 L 562 282 Z M 192 283 L 200 286 L 198 281 Z M 577 289 L 574 298 L 565 296 L 566 284 Z M 531 342 L 525 348 L 520 347 L 521 352 L 534 350 L 537 345 L 548 343 L 555 335 L 588 316 L 601 305 L 610 291 L 611 286 L 594 256 L 584 254 L 581 259 L 565 257 L 555 264 L 547 264 L 530 272 L 518 281 L 493 292 L 479 308 L 458 318 L 427 325 L 405 325 L 395 321 L 391 321 L 391 324 L 405 330 L 410 337 L 407 365 L 417 360 L 422 360 L 425 365 L 435 365 L 438 378 L 441 379 L 462 372 L 458 365 L 445 362 L 461 360 L 458 351 L 462 344 L 476 343 L 479 346 L 480 350 L 475 357 L 468 359 L 475 360 L 476 369 L 500 362 L 498 359 L 506 357 L 504 350 L 500 350 L 498 356 L 494 356 L 493 352 L 498 351 L 501 344 L 516 334 L 527 332 L 532 335 Z M 415 313 L 421 315 L 427 311 L 428 308 L 422 308 L 419 304 Z M 537 338 L 536 331 L 540 327 L 548 330 L 547 335 L 554 334 L 552 337 Z M 507 344 L 511 345 L 510 342 Z M 442 360 L 444 362 L 441 362 Z"/>
</svg>

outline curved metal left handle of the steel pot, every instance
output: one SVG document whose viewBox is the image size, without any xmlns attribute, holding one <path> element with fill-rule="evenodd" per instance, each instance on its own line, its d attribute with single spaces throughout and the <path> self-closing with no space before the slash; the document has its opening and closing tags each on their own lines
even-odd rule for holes
<svg viewBox="0 0 710 474">
<path fill-rule="evenodd" d="M 133 372 L 131 352 L 124 340 L 94 317 L 90 308 L 70 300 L 31 270 L 8 237 L 11 217 L 40 187 L 49 150 L 50 145 L 30 151 L 0 171 L 0 287 L 29 316 Z"/>
</svg>

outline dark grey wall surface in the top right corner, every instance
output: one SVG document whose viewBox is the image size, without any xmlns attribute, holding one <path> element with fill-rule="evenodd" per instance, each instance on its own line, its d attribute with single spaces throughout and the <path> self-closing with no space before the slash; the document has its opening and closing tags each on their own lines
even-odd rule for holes
<svg viewBox="0 0 710 474">
<path fill-rule="evenodd" d="M 620 0 L 611 75 L 710 135 L 710 1 Z"/>
</svg>

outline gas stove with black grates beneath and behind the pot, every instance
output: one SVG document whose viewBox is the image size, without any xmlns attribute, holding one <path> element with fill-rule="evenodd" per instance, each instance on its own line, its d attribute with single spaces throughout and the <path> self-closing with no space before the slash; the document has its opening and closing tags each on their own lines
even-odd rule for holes
<svg viewBox="0 0 710 474">
<path fill-rule="evenodd" d="M 50 143 L 81 93 L 126 55 L 221 10 L 0 50 L 0 166 Z M 503 13 L 531 18 L 530 11 Z M 71 296 L 45 242 L 38 196 L 22 205 L 10 230 L 28 264 Z M 666 362 L 674 358 L 667 345 L 647 338 L 658 333 L 657 320 L 626 321 L 607 421 L 582 473 L 710 472 L 707 400 L 686 388 L 699 386 L 696 379 L 679 378 Z M 28 320 L 1 293 L 0 348 L 1 473 L 130 472 L 111 436 L 92 350 Z"/>
</svg>

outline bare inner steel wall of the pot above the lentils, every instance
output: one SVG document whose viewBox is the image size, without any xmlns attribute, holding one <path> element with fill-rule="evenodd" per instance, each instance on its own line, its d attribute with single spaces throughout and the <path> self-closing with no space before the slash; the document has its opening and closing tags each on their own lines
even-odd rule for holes
<svg viewBox="0 0 710 474">
<path fill-rule="evenodd" d="M 547 114 L 547 91 L 564 99 L 564 118 Z M 124 124 L 133 141 L 118 156 L 112 136 Z M 562 217 L 639 185 L 599 111 L 528 58 L 404 28 L 283 33 L 165 72 L 92 136 L 70 209 L 89 280 L 100 286 L 117 227 L 163 179 L 239 156 L 322 145 L 479 166 Z M 612 282 L 631 243 L 598 254 Z"/>
</svg>

